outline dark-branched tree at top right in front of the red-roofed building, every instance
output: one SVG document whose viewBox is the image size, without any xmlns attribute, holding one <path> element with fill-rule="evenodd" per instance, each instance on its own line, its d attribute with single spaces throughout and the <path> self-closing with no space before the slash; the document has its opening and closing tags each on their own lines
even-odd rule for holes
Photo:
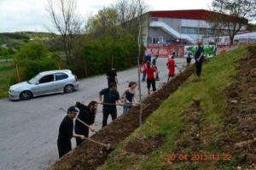
<svg viewBox="0 0 256 170">
<path fill-rule="evenodd" d="M 230 45 L 234 37 L 247 25 L 247 19 L 252 19 L 256 14 L 256 2 L 254 0 L 213 0 L 212 9 L 219 13 L 218 20 L 228 29 Z"/>
</svg>

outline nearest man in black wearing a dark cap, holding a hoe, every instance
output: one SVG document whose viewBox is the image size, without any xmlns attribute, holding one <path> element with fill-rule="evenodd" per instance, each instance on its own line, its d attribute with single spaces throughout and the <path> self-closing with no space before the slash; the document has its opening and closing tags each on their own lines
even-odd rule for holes
<svg viewBox="0 0 256 170">
<path fill-rule="evenodd" d="M 67 110 L 67 116 L 64 117 L 59 127 L 57 145 L 60 158 L 72 150 L 72 137 L 82 140 L 85 139 L 84 135 L 73 133 L 73 119 L 77 116 L 78 112 L 79 111 L 74 106 L 69 107 Z"/>
</svg>

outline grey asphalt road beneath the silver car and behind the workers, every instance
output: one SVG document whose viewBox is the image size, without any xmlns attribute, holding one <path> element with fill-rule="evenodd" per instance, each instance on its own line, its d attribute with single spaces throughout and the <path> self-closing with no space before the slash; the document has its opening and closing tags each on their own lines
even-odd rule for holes
<svg viewBox="0 0 256 170">
<path fill-rule="evenodd" d="M 184 59 L 176 59 L 182 68 Z M 166 59 L 158 59 L 160 71 L 159 88 L 167 80 Z M 179 72 L 176 69 L 177 73 Z M 128 82 L 137 81 L 137 69 L 118 72 L 118 91 L 121 95 Z M 98 92 L 108 86 L 105 76 L 91 77 L 80 82 L 79 91 L 73 94 L 55 94 L 28 101 L 0 100 L 0 169 L 38 170 L 49 167 L 58 159 L 56 139 L 61 120 L 75 101 L 85 102 L 98 99 Z M 146 82 L 142 82 L 143 97 L 147 96 Z M 137 93 L 138 94 L 138 93 Z M 137 96 L 138 98 L 138 96 Z M 122 114 L 122 107 L 118 107 Z M 111 122 L 109 116 L 108 122 Z M 96 130 L 102 127 L 102 106 L 96 114 Z M 91 133 L 90 133 L 91 135 Z M 74 139 L 73 147 L 75 146 Z"/>
</svg>

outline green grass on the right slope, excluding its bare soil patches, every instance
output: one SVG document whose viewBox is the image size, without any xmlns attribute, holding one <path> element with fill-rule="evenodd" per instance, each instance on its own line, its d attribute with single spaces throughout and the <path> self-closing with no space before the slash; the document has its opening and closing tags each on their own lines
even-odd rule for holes
<svg viewBox="0 0 256 170">
<path fill-rule="evenodd" d="M 177 140 L 183 138 L 180 135 L 182 128 L 188 127 L 183 122 L 183 111 L 189 108 L 194 99 L 201 99 L 201 110 L 203 111 L 201 117 L 201 131 L 211 133 L 219 129 L 224 129 L 224 111 L 226 111 L 226 99 L 221 92 L 224 88 L 230 86 L 236 75 L 236 61 L 247 54 L 246 47 L 236 48 L 235 50 L 218 55 L 211 59 L 207 64 L 203 65 L 201 82 L 195 81 L 195 76 L 183 83 L 177 91 L 172 94 L 165 102 L 160 105 L 157 111 L 148 117 L 143 126 L 138 128 L 135 133 L 125 139 L 117 150 L 114 150 L 108 160 L 100 170 L 119 170 L 119 169 L 217 169 L 214 161 L 189 161 L 170 163 L 167 157 L 176 148 Z M 154 136 L 156 134 L 165 134 L 166 142 L 158 150 L 154 150 L 148 156 L 136 154 L 124 154 L 125 144 L 129 141 L 140 137 Z M 233 132 L 236 134 L 236 132 Z M 201 153 L 222 154 L 218 150 L 218 139 L 221 133 L 212 133 L 209 135 L 206 143 L 201 144 Z M 189 148 L 186 153 L 191 154 Z M 193 153 L 192 153 L 193 154 Z M 119 157 L 122 159 L 119 159 Z M 192 164 L 192 165 L 191 165 Z M 220 162 L 218 167 L 221 169 L 232 169 L 236 165 L 236 160 Z M 192 167 L 191 167 L 192 166 Z"/>
</svg>

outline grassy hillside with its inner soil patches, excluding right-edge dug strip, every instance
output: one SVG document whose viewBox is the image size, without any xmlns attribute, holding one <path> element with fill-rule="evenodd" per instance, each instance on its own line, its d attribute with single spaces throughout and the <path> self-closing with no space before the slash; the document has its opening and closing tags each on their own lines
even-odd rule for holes
<svg viewBox="0 0 256 170">
<path fill-rule="evenodd" d="M 238 160 L 223 149 L 224 137 L 237 132 L 225 130 L 228 102 L 222 93 L 235 82 L 236 61 L 246 54 L 242 47 L 211 59 L 201 82 L 189 77 L 99 169 L 235 169 Z"/>
</svg>

